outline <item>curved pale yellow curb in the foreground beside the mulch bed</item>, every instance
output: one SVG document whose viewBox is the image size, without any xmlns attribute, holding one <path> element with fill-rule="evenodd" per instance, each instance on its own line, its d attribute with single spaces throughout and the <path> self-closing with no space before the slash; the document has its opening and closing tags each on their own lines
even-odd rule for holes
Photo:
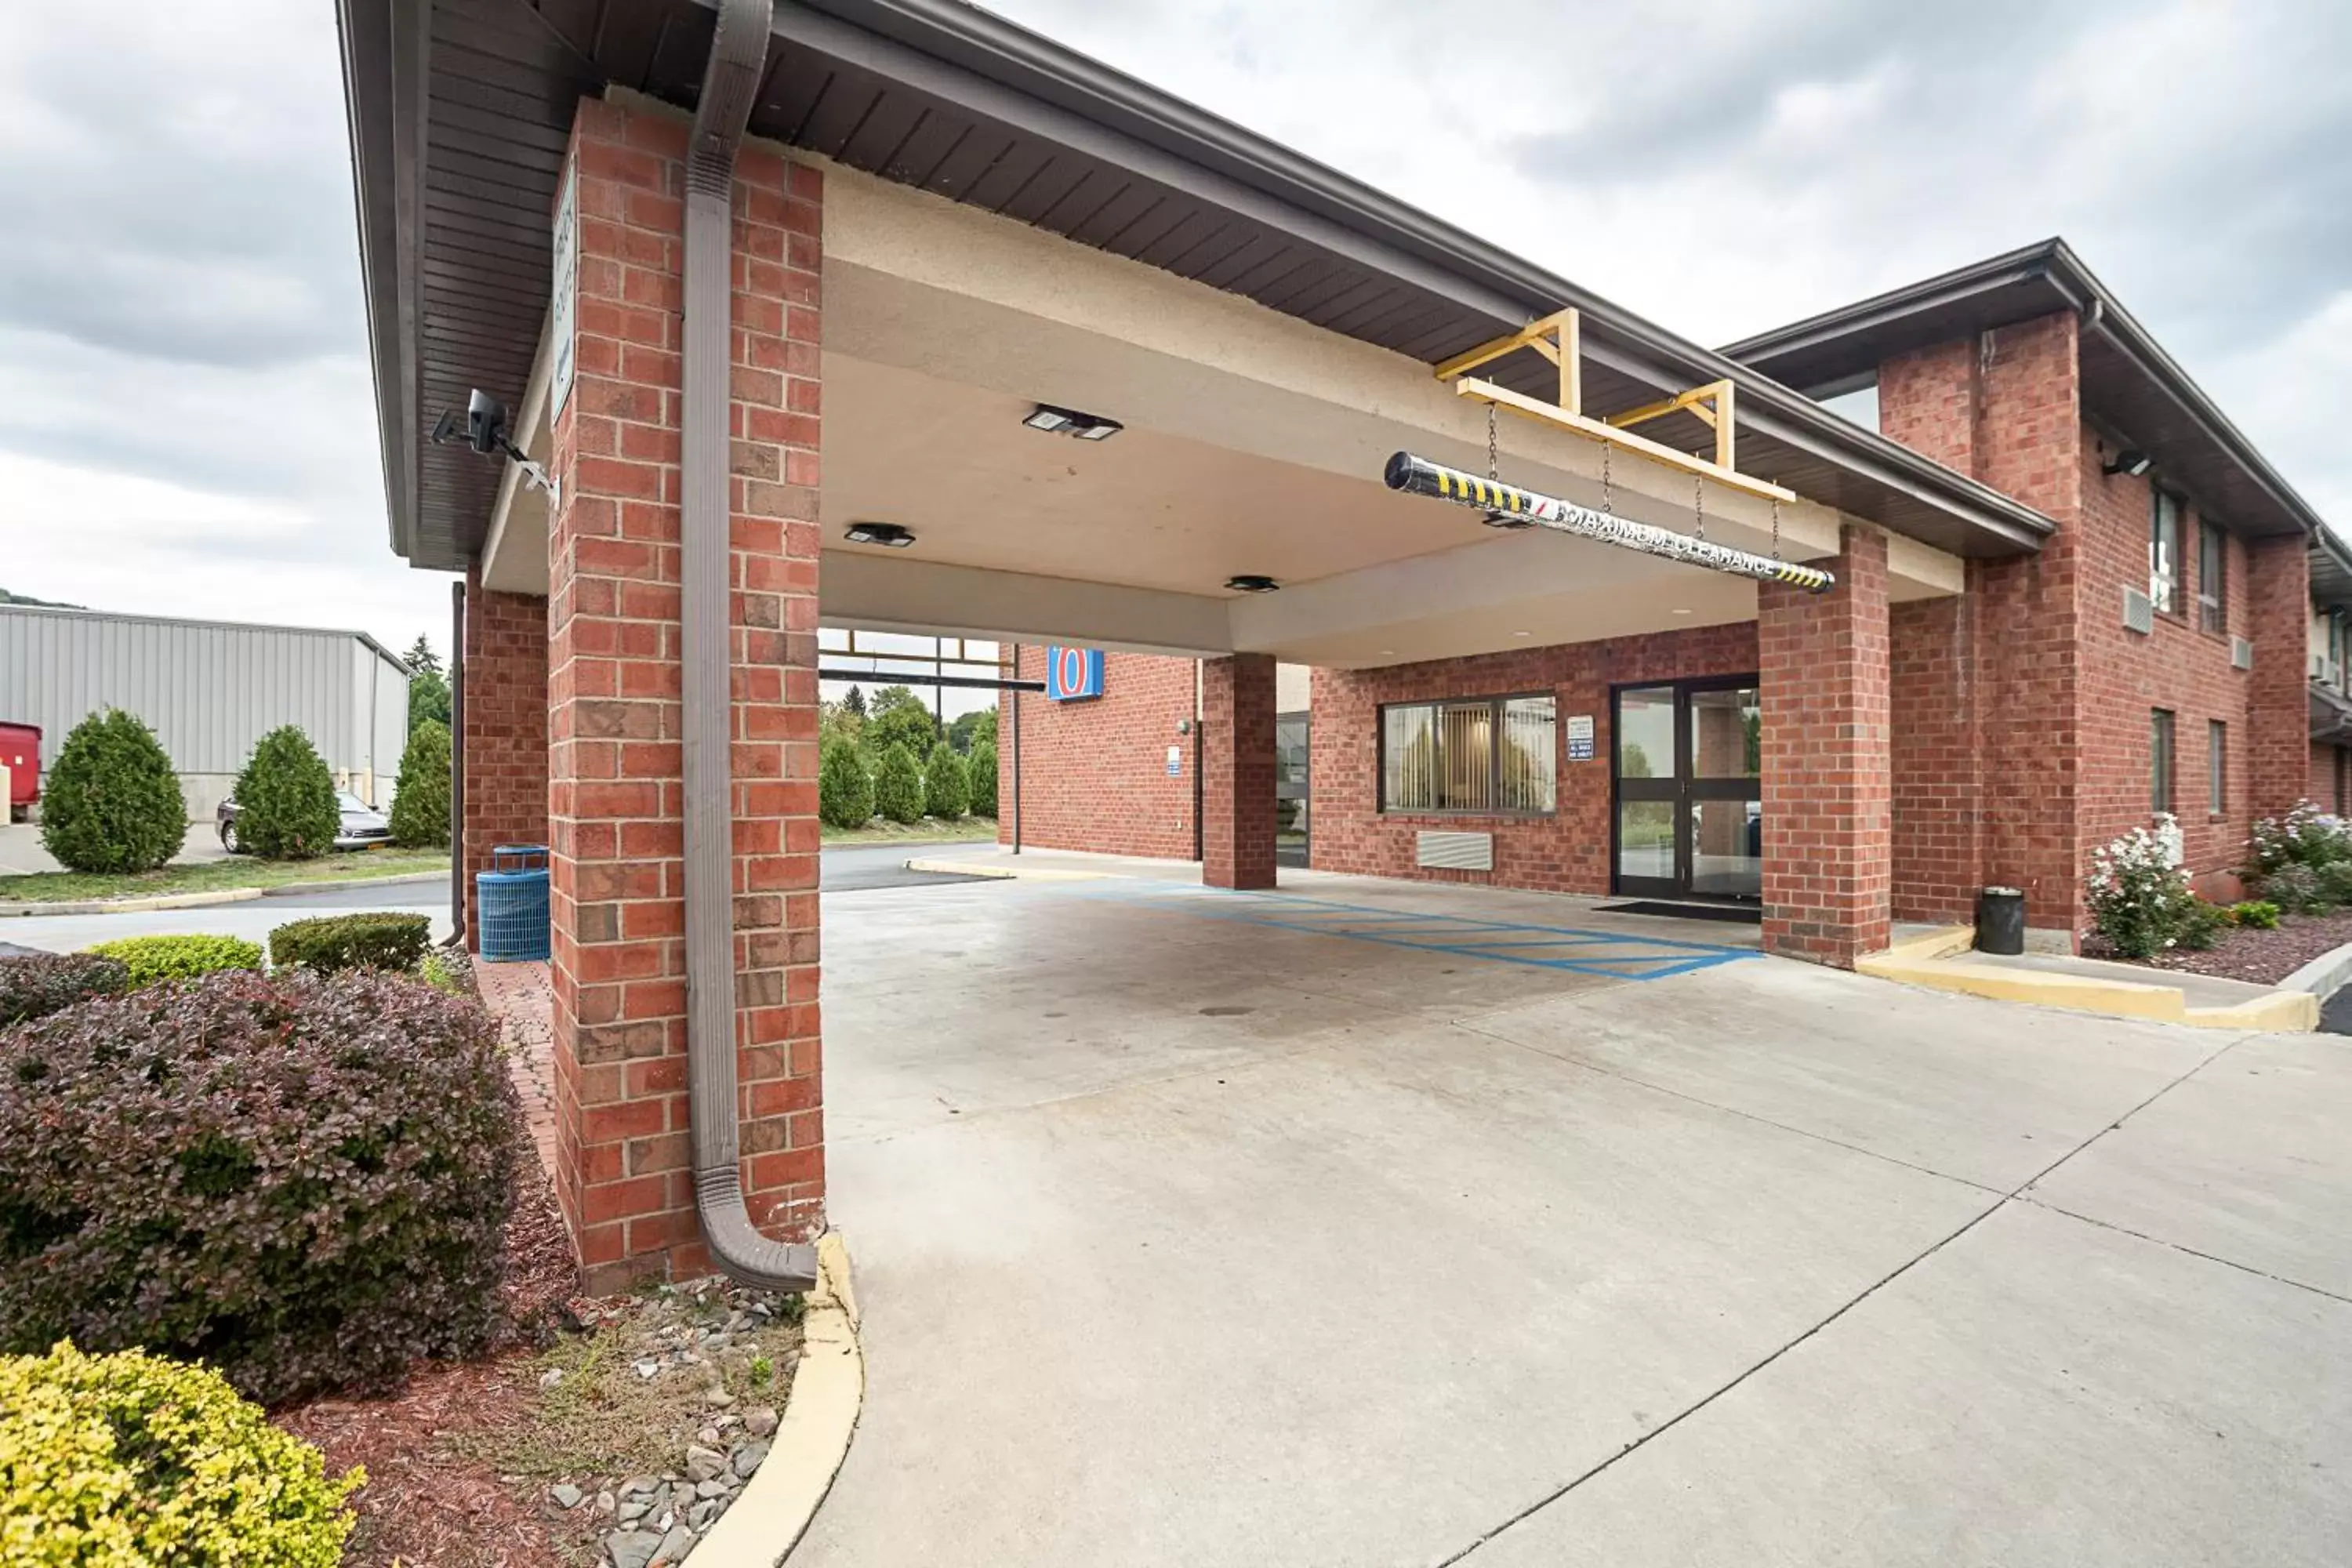
<svg viewBox="0 0 2352 1568">
<path fill-rule="evenodd" d="M 694 1547 L 696 1568 L 776 1568 L 800 1544 L 849 1458 L 866 1403 L 866 1352 L 842 1232 L 828 1229 L 816 1241 L 816 1260 L 821 1272 L 800 1328 L 800 1368 L 776 1439 L 734 1507 Z"/>
</svg>

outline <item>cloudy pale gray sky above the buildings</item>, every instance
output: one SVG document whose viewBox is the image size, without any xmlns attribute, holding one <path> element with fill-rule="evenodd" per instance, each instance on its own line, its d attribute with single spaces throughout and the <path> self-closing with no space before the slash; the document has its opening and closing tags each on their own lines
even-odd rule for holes
<svg viewBox="0 0 2352 1568">
<path fill-rule="evenodd" d="M 0 588 L 445 639 L 332 9 L 0 5 Z M 2352 531 L 2340 0 L 997 9 L 1703 343 L 2060 233 Z"/>
</svg>

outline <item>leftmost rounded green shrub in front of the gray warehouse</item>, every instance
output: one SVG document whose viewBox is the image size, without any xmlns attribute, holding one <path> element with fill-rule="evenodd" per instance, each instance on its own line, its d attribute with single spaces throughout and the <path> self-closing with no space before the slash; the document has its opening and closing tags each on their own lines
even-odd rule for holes
<svg viewBox="0 0 2352 1568">
<path fill-rule="evenodd" d="M 108 708 L 73 726 L 42 783 L 40 842 L 73 872 L 151 872 L 188 837 L 188 802 L 155 731 Z"/>
</svg>

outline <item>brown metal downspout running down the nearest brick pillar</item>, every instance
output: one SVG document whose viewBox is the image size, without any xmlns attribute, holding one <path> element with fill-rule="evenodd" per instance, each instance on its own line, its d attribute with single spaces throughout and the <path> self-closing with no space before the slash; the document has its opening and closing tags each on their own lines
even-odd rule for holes
<svg viewBox="0 0 2352 1568">
<path fill-rule="evenodd" d="M 734 160 L 767 68 L 774 0 L 722 0 L 687 143 L 680 409 L 680 654 L 687 837 L 687 1088 L 694 1208 L 710 1260 L 764 1291 L 816 1284 L 816 1248 L 762 1237 L 743 1208 L 736 1145 L 736 973 L 727 367 Z"/>
</svg>

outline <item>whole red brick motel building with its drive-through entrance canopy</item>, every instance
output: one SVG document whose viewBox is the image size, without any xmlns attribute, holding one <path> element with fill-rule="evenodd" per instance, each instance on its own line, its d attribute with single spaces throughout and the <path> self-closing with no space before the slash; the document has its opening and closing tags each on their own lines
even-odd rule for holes
<svg viewBox="0 0 2352 1568">
<path fill-rule="evenodd" d="M 967 5 L 339 24 L 390 545 L 466 583 L 463 870 L 550 846 L 593 1286 L 814 1267 L 821 625 L 1110 651 L 1009 703 L 1033 844 L 1256 889 L 1289 830 L 1828 964 L 1985 882 L 2063 938 L 2154 799 L 2218 877 L 2340 776 L 2352 574 L 2060 244 L 1712 353 Z"/>
</svg>

